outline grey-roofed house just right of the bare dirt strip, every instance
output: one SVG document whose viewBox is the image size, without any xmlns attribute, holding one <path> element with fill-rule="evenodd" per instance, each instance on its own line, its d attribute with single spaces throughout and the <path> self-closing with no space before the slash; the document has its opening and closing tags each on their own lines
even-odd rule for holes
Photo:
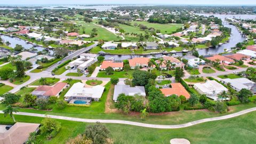
<svg viewBox="0 0 256 144">
<path fill-rule="evenodd" d="M 146 97 L 146 92 L 144 86 L 135 86 L 131 87 L 130 85 L 115 85 L 113 100 L 117 102 L 117 98 L 119 94 L 124 93 L 125 95 L 134 96 L 135 94 L 139 94 L 143 97 Z"/>
</svg>

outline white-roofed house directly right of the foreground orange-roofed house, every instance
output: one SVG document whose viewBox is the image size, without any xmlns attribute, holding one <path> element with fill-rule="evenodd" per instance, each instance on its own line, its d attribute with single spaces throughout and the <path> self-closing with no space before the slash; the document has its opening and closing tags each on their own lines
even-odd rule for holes
<svg viewBox="0 0 256 144">
<path fill-rule="evenodd" d="M 196 83 L 194 84 L 194 88 L 198 93 L 205 94 L 206 97 L 213 100 L 218 100 L 219 93 L 223 91 L 228 92 L 228 89 L 225 86 L 214 80 L 205 83 Z"/>
</svg>

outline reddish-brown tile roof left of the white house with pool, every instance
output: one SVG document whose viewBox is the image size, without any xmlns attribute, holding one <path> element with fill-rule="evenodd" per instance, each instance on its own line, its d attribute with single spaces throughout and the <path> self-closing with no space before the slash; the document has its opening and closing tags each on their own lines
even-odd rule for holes
<svg viewBox="0 0 256 144">
<path fill-rule="evenodd" d="M 35 91 L 44 91 L 45 93 L 43 95 L 45 96 L 55 96 L 57 95 L 65 86 L 67 83 L 57 83 L 54 86 L 47 86 L 47 85 L 41 85 L 38 86 Z"/>
</svg>

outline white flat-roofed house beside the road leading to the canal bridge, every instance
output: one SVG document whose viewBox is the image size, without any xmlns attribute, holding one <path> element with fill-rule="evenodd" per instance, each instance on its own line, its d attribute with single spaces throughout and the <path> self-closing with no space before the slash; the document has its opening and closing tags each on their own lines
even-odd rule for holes
<svg viewBox="0 0 256 144">
<path fill-rule="evenodd" d="M 68 67 L 70 68 L 76 67 L 79 69 L 86 69 L 87 67 L 91 66 L 92 63 L 97 61 L 96 57 L 97 57 L 97 54 L 82 53 L 80 54 L 80 58 L 69 62 L 69 64 L 65 68 L 68 69 Z"/>
</svg>

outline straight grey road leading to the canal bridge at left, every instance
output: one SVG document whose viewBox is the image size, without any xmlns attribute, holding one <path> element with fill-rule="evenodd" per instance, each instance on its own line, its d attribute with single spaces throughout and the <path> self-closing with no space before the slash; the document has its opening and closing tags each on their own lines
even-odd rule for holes
<svg viewBox="0 0 256 144">
<path fill-rule="evenodd" d="M 71 60 L 71 59 L 73 59 L 74 57 L 77 57 L 79 54 L 81 54 L 81 53 L 83 53 L 83 52 L 85 52 L 85 51 L 91 50 L 93 47 L 97 46 L 97 44 L 98 44 L 98 42 L 94 42 L 93 45 L 84 47 L 84 48 L 82 48 L 82 49 L 80 49 L 80 50 L 77 50 L 77 51 L 75 51 L 75 52 L 69 54 L 67 57 L 65 57 L 65 58 L 62 59 L 60 62 L 58 62 L 59 64 L 58 64 L 58 63 L 55 63 L 54 65 L 52 65 L 51 67 L 49 67 L 49 68 L 46 69 L 45 71 L 51 72 L 54 68 L 56 68 L 57 66 L 59 66 L 61 63 L 65 62 L 65 61 L 67 61 L 67 60 Z"/>
</svg>

